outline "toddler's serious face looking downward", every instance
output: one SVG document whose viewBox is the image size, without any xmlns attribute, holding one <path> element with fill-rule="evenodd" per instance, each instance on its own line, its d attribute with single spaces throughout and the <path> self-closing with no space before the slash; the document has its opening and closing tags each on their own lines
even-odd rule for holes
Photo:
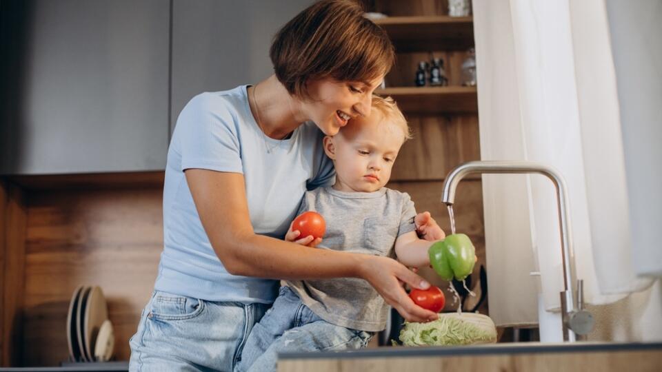
<svg viewBox="0 0 662 372">
<path fill-rule="evenodd" d="M 405 133 L 372 110 L 370 116 L 350 120 L 333 137 L 324 138 L 324 150 L 336 168 L 334 189 L 374 192 L 388 183 Z"/>
</svg>

